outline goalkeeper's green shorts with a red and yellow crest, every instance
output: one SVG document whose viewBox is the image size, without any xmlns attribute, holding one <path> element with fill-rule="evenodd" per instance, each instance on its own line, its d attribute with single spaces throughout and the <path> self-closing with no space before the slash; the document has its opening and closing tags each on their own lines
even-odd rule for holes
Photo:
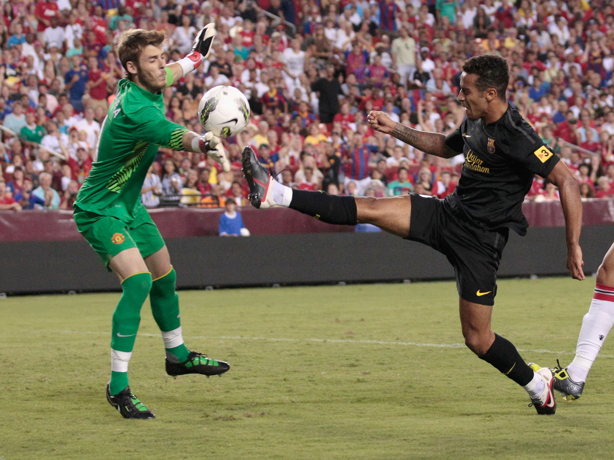
<svg viewBox="0 0 614 460">
<path fill-rule="evenodd" d="M 77 210 L 74 219 L 79 233 L 90 243 L 109 271 L 109 261 L 123 250 L 138 248 L 142 258 L 146 258 L 165 244 L 158 227 L 146 211 L 139 213 L 130 223 L 83 210 Z"/>
</svg>

